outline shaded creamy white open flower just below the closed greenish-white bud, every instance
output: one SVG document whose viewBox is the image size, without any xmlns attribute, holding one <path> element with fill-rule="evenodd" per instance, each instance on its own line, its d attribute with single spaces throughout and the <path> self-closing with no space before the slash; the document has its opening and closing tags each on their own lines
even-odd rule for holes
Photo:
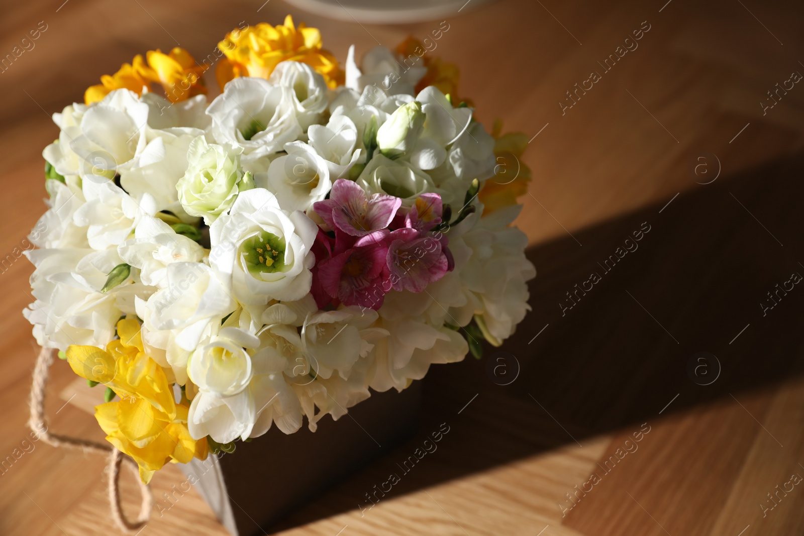
<svg viewBox="0 0 804 536">
<path fill-rule="evenodd" d="M 428 174 L 414 169 L 408 162 L 391 160 L 375 154 L 356 181 L 368 194 L 388 194 L 402 199 L 410 207 L 420 194 L 441 193 Z"/>
</svg>

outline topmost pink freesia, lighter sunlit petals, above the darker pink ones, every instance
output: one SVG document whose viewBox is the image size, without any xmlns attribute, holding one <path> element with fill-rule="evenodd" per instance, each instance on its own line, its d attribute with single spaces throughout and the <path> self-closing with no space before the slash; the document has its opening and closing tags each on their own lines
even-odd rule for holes
<svg viewBox="0 0 804 536">
<path fill-rule="evenodd" d="M 371 236 L 377 241 L 394 219 L 402 204 L 400 198 L 386 194 L 366 197 L 363 188 L 347 179 L 339 178 L 330 191 L 330 198 L 314 204 L 314 210 L 330 229 L 339 229 L 351 236 Z"/>
</svg>

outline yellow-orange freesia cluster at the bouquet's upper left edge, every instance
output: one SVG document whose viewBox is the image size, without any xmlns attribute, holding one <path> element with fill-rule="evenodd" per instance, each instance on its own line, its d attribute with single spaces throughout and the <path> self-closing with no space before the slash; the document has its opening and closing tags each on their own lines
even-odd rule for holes
<svg viewBox="0 0 804 536">
<path fill-rule="evenodd" d="M 131 64 L 123 63 L 112 76 L 101 76 L 100 84 L 84 92 L 84 102 L 91 104 L 102 100 L 109 92 L 121 88 L 142 95 L 142 88 L 150 90 L 152 84 L 161 85 L 170 102 L 187 100 L 207 92 L 201 78 L 206 69 L 206 66 L 195 63 L 195 59 L 183 48 L 175 47 L 168 54 L 158 49 L 148 51 L 146 59 L 137 54 Z"/>
</svg>

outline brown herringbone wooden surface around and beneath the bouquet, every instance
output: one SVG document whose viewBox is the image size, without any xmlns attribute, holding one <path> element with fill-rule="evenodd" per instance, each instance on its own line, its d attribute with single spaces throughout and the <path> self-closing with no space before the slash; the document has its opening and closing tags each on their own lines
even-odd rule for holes
<svg viewBox="0 0 804 536">
<path fill-rule="evenodd" d="M 767 317 L 758 305 L 804 271 L 796 268 L 804 263 L 802 159 L 788 156 L 802 149 L 804 89 L 764 114 L 760 104 L 790 72 L 804 72 L 800 3 L 472 7 L 448 19 L 437 54 L 461 66 L 461 93 L 487 127 L 500 117 L 534 136 L 519 226 L 539 276 L 533 312 L 503 347 L 521 374 L 503 387 L 486 362 L 433 367 L 420 435 L 295 513 L 281 534 L 802 534 L 801 486 L 780 492 L 772 510 L 767 493 L 804 475 L 804 293 Z M 0 74 L 0 252 L 14 260 L 44 209 L 39 155 L 57 134 L 50 113 L 137 53 L 180 43 L 203 56 L 241 20 L 279 23 L 286 12 L 320 27 L 340 59 L 350 43 L 359 52 L 394 46 L 433 27 L 336 23 L 277 0 L 228 2 L 225 11 L 207 0 L 6 6 L 2 54 L 39 21 L 47 31 Z M 603 72 L 597 62 L 643 21 L 650 31 L 638 48 Z M 562 112 L 566 92 L 591 71 L 601 80 Z M 716 182 L 701 184 L 718 169 Z M 652 231 L 639 250 L 562 316 L 564 293 L 642 222 Z M 35 348 L 20 310 L 32 301 L 30 273 L 14 260 L 0 277 L 0 456 L 23 452 L 0 476 L 0 534 L 116 534 L 104 460 L 23 444 Z M 698 361 L 687 373 L 702 351 L 722 369 L 706 386 Z M 74 378 L 56 363 L 51 428 L 100 440 L 95 420 L 59 399 Z M 451 431 L 439 450 L 361 514 L 363 493 L 442 422 Z M 634 443 L 642 423 L 650 432 Z M 592 473 L 599 482 L 590 484 Z M 180 480 L 173 467 L 158 473 L 155 497 Z M 124 494 L 133 509 L 133 481 L 124 479 Z M 195 492 L 162 516 L 154 511 L 142 534 L 188 530 L 224 534 Z"/>
</svg>

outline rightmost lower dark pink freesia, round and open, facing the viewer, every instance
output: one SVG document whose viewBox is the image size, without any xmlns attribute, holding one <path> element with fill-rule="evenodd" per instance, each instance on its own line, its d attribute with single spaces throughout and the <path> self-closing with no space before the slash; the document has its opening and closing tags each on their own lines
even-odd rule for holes
<svg viewBox="0 0 804 536">
<path fill-rule="evenodd" d="M 394 290 L 420 293 L 429 283 L 440 280 L 450 269 L 450 258 L 441 240 L 403 227 L 388 235 L 386 260 Z"/>
</svg>

